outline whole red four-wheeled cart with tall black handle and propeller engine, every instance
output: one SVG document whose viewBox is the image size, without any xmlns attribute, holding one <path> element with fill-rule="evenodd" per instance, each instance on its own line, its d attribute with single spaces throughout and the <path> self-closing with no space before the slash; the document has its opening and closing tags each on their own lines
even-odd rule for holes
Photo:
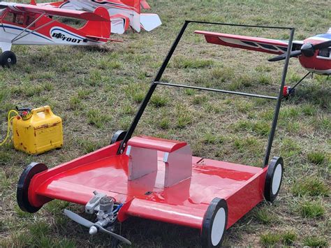
<svg viewBox="0 0 331 248">
<path fill-rule="evenodd" d="M 109 233 L 129 244 L 114 232 L 113 224 L 135 216 L 198 228 L 203 247 L 219 247 L 225 231 L 244 214 L 263 199 L 272 202 L 277 197 L 284 170 L 283 159 L 274 157 L 269 160 L 289 56 L 277 97 L 160 82 L 190 23 L 215 24 L 185 22 L 130 129 L 115 133 L 108 147 L 57 167 L 47 169 L 43 163 L 31 163 L 25 168 L 17 186 L 17 202 L 22 210 L 37 212 L 50 200 L 66 200 L 85 205 L 87 213 L 96 214 L 97 221 L 92 223 L 65 210 L 68 217 L 87 226 L 90 234 L 98 231 Z M 289 47 L 293 34 L 294 29 L 290 29 Z M 182 141 L 132 137 L 158 85 L 276 100 L 263 167 L 192 156 L 189 144 Z"/>
</svg>

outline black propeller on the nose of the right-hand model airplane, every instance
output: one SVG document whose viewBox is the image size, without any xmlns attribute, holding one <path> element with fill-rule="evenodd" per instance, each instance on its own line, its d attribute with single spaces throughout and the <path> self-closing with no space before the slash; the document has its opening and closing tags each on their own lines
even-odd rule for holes
<svg viewBox="0 0 331 248">
<path fill-rule="evenodd" d="M 290 58 L 297 57 L 301 54 L 304 54 L 305 57 L 313 57 L 316 50 L 321 50 L 323 48 L 328 48 L 330 46 L 331 46 L 331 41 L 325 41 L 322 43 L 318 43 L 316 45 L 313 45 L 311 43 L 305 43 L 304 45 L 302 45 L 300 50 L 290 52 Z M 277 57 L 273 57 L 272 59 L 268 59 L 268 61 L 273 62 L 273 61 L 279 61 L 279 60 L 283 60 L 283 59 L 286 59 L 286 53 L 281 54 Z"/>
</svg>

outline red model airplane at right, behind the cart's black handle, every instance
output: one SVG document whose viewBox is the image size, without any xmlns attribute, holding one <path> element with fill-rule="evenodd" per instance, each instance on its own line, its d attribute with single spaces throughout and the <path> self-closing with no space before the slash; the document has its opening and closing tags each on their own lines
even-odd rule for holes
<svg viewBox="0 0 331 248">
<path fill-rule="evenodd" d="M 288 41 L 238 36 L 234 34 L 220 34 L 208 31 L 196 31 L 196 34 L 203 34 L 208 43 L 225 45 L 231 48 L 279 54 L 279 56 L 269 59 L 269 61 L 286 59 Z M 331 28 L 326 34 L 318 34 L 304 41 L 294 41 L 291 49 L 290 57 L 297 57 L 302 67 L 309 71 L 304 78 L 310 73 L 331 75 Z M 302 78 L 302 80 L 304 78 Z M 294 88 L 299 85 L 302 80 L 297 82 L 294 87 L 285 87 L 284 96 L 292 93 Z"/>
</svg>

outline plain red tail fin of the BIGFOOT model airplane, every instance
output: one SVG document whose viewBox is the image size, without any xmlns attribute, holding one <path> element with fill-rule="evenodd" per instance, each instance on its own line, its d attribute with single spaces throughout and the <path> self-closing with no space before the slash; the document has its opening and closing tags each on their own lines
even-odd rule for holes
<svg viewBox="0 0 331 248">
<path fill-rule="evenodd" d="M 84 27 L 80 29 L 80 31 L 82 31 L 84 34 L 87 34 L 87 36 L 109 39 L 111 24 L 108 10 L 103 7 L 98 7 L 96 10 L 94 10 L 94 13 L 109 20 L 109 22 L 88 21 Z"/>
</svg>

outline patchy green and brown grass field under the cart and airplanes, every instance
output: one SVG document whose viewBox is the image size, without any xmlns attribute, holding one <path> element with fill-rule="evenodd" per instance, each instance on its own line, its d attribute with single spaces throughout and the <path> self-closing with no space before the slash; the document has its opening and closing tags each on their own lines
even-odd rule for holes
<svg viewBox="0 0 331 248">
<path fill-rule="evenodd" d="M 147 33 L 114 36 L 124 43 L 102 48 L 13 46 L 17 66 L 0 68 L 0 131 L 16 105 L 50 105 L 64 121 L 64 147 L 28 156 L 0 147 L 0 247 L 101 247 L 107 235 L 90 237 L 68 220 L 52 201 L 37 214 L 16 203 L 17 180 L 31 161 L 49 168 L 110 143 L 127 129 L 184 20 L 295 27 L 295 39 L 323 34 L 331 26 L 330 1 L 149 1 L 163 25 Z M 66 20 L 70 24 L 77 24 Z M 179 44 L 163 81 L 219 89 L 277 94 L 281 62 L 268 54 L 232 50 L 205 43 L 195 29 L 288 38 L 286 31 L 192 26 Z M 291 59 L 287 83 L 306 73 Z M 282 156 L 285 174 L 277 201 L 261 203 L 230 228 L 224 245 L 331 245 L 331 79 L 307 78 L 293 98 L 283 102 L 272 156 Z M 159 87 L 137 134 L 186 140 L 196 156 L 262 166 L 274 102 Z M 121 226 L 132 247 L 199 247 L 199 231 L 144 219 Z"/>
</svg>

